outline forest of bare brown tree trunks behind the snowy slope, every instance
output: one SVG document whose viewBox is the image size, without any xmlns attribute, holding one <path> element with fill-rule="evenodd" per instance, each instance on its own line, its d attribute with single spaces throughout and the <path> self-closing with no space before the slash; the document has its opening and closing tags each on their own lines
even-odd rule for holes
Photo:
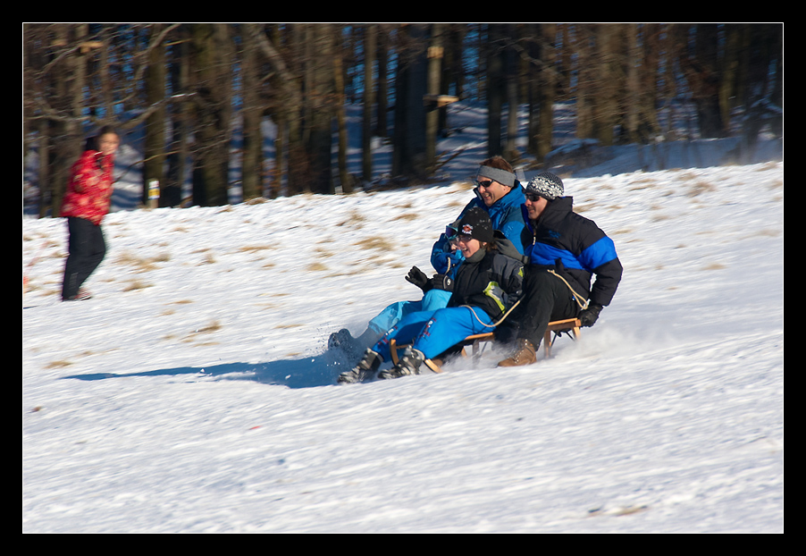
<svg viewBox="0 0 806 556">
<path fill-rule="evenodd" d="M 156 186 L 159 206 L 225 205 L 235 187 L 246 201 L 427 183 L 456 156 L 435 145 L 457 101 L 487 110 L 489 156 L 531 168 L 560 147 L 557 103 L 573 105 L 583 153 L 737 136 L 742 162 L 762 130 L 783 136 L 782 23 L 23 23 L 22 34 L 23 158 L 37 155 L 40 217 L 59 215 L 70 165 L 102 125 L 138 144 L 141 201 Z M 360 172 L 347 164 L 348 105 L 362 107 Z M 379 140 L 392 152 L 384 176 Z"/>
</svg>

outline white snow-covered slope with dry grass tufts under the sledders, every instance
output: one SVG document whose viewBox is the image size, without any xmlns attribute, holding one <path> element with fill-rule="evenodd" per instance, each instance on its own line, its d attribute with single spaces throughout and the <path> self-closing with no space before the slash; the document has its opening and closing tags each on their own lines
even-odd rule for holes
<svg viewBox="0 0 806 556">
<path fill-rule="evenodd" d="M 117 210 L 80 302 L 63 219 L 23 216 L 23 532 L 783 532 L 783 162 L 567 178 L 625 266 L 580 341 L 335 383 L 328 335 L 418 299 L 482 158 Z"/>
</svg>

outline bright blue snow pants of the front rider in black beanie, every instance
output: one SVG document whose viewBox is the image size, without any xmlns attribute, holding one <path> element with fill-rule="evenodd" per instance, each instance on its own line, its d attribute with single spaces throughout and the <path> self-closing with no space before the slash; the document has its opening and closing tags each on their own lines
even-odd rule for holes
<svg viewBox="0 0 806 556">
<path fill-rule="evenodd" d="M 422 351 L 427 359 L 435 358 L 471 334 L 492 332 L 495 328 L 490 324 L 490 316 L 479 307 L 445 307 L 436 311 L 418 311 L 400 319 L 374 345 L 373 350 L 384 361 L 389 361 L 389 342 L 394 338 L 398 344 L 413 343 L 413 347 Z"/>
</svg>

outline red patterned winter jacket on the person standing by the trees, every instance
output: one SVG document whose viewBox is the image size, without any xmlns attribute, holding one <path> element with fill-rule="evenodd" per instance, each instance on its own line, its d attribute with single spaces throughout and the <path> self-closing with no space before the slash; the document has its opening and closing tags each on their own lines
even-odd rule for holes
<svg viewBox="0 0 806 556">
<path fill-rule="evenodd" d="M 78 216 L 98 225 L 109 212 L 112 198 L 114 156 L 86 150 L 72 165 L 67 192 L 62 203 L 63 216 Z"/>
</svg>

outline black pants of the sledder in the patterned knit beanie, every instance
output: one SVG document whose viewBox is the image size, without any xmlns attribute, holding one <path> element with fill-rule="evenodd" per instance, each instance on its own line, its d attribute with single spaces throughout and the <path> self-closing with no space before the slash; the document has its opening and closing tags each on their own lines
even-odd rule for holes
<svg viewBox="0 0 806 556">
<path fill-rule="evenodd" d="M 513 324 L 518 339 L 531 341 L 538 348 L 550 322 L 574 318 L 580 307 L 558 276 L 546 269 L 526 267 L 524 272 L 524 295 L 512 312 Z"/>
</svg>

